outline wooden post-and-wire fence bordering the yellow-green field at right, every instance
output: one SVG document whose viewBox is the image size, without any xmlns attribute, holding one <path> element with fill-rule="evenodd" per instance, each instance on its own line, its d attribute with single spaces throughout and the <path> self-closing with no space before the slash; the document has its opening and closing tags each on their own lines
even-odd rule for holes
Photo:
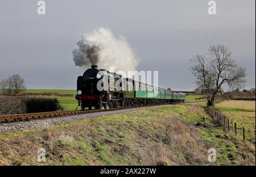
<svg viewBox="0 0 256 177">
<path fill-rule="evenodd" d="M 255 130 L 245 129 L 245 127 L 238 125 L 235 121 L 232 121 L 229 117 L 225 116 L 221 111 L 218 111 L 213 107 L 208 107 L 208 105 L 207 111 L 213 121 L 223 128 L 224 132 L 232 132 L 236 136 L 242 137 L 243 141 L 255 142 Z"/>
</svg>

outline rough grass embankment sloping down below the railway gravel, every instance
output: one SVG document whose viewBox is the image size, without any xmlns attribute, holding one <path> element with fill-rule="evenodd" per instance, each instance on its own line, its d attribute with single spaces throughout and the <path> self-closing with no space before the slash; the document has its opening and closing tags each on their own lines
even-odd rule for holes
<svg viewBox="0 0 256 177">
<path fill-rule="evenodd" d="M 198 105 L 174 105 L 100 116 L 37 130 L 0 135 L 0 165 L 206 165 L 208 149 L 217 165 L 255 165 L 255 146 L 195 124 L 208 115 Z"/>
</svg>

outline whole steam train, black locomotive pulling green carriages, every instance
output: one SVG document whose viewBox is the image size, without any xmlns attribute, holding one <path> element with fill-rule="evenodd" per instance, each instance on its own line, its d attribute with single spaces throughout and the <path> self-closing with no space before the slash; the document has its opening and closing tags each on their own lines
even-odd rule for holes
<svg viewBox="0 0 256 177">
<path fill-rule="evenodd" d="M 185 101 L 185 94 L 148 85 L 92 65 L 77 78 L 76 99 L 82 109 L 173 104 Z"/>
</svg>

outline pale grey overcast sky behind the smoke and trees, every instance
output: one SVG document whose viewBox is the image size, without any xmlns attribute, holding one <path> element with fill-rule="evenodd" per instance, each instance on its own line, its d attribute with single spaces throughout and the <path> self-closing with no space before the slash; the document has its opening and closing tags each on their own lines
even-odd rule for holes
<svg viewBox="0 0 256 177">
<path fill-rule="evenodd" d="M 72 50 L 82 33 L 105 27 L 127 37 L 140 60 L 138 70 L 158 70 L 159 85 L 193 90 L 193 54 L 224 44 L 247 68 L 246 88 L 255 87 L 255 0 L 208 1 L 46 0 L 46 15 L 35 0 L 0 2 L 0 79 L 18 73 L 28 88 L 73 88 L 84 69 Z"/>
</svg>

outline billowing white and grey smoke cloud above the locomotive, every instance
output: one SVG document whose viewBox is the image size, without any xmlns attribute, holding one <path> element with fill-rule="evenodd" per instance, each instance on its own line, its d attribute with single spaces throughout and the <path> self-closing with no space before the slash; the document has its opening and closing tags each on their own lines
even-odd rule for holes
<svg viewBox="0 0 256 177">
<path fill-rule="evenodd" d="M 95 29 L 92 33 L 82 35 L 77 42 L 78 49 L 73 50 L 73 61 L 76 66 L 98 65 L 101 69 L 130 71 L 138 66 L 133 50 L 123 36 L 115 37 L 106 28 Z"/>
</svg>

